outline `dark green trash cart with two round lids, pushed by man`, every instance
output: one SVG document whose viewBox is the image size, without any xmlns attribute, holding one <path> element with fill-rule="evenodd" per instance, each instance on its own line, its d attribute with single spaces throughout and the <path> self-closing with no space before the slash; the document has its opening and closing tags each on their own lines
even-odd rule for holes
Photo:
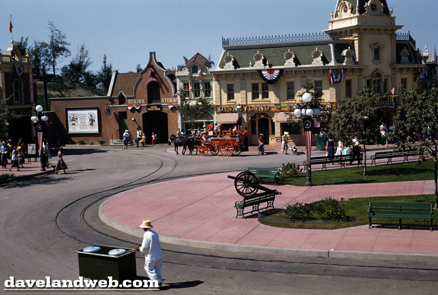
<svg viewBox="0 0 438 295">
<path fill-rule="evenodd" d="M 100 250 L 97 248 L 100 248 Z M 77 253 L 79 262 L 79 276 L 99 280 L 108 280 L 108 277 L 112 277 L 112 279 L 119 282 L 137 276 L 135 251 L 118 256 L 109 255 L 108 253 L 114 249 L 132 250 L 123 247 L 92 245 L 74 251 L 74 253 Z"/>
</svg>

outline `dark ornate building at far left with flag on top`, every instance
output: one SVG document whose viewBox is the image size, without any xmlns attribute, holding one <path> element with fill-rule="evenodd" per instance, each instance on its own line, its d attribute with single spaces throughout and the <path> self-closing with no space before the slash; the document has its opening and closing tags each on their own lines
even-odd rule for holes
<svg viewBox="0 0 438 295">
<path fill-rule="evenodd" d="M 18 47 L 11 41 L 5 54 L 0 54 L 0 99 L 6 100 L 7 108 L 21 115 L 8 124 L 7 135 L 18 141 L 31 143 L 36 135 L 33 122 L 30 120 L 37 105 L 37 86 L 34 82 L 29 51 L 21 55 Z"/>
</svg>

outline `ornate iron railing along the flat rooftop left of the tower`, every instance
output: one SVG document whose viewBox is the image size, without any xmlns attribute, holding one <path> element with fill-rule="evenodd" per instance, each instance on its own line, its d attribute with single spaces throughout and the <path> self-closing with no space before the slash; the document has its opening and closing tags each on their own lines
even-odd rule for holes
<svg viewBox="0 0 438 295">
<path fill-rule="evenodd" d="M 350 33 L 345 34 L 331 34 L 332 39 L 351 39 Z M 317 41 L 327 40 L 330 36 L 326 33 L 309 33 L 309 34 L 295 34 L 295 35 L 275 35 L 262 37 L 238 37 L 238 38 L 224 38 L 222 37 L 222 46 L 230 45 L 250 45 L 250 44 L 269 44 L 269 43 L 284 43 L 284 42 L 300 42 L 300 41 Z"/>
</svg>

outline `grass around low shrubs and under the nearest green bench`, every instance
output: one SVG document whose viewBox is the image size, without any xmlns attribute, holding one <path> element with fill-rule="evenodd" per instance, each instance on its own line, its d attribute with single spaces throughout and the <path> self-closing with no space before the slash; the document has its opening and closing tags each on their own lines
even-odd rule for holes
<svg viewBox="0 0 438 295">
<path fill-rule="evenodd" d="M 282 228 L 306 228 L 306 229 L 338 229 L 344 227 L 352 227 L 368 224 L 366 217 L 368 211 L 368 202 L 404 202 L 404 203 L 435 203 L 434 195 L 418 195 L 418 196 L 394 196 L 394 197 L 370 197 L 370 198 L 353 198 L 349 200 L 341 200 L 348 208 L 347 215 L 349 221 L 303 221 L 290 223 L 286 218 L 285 211 L 278 211 L 269 216 L 269 218 L 277 219 L 274 221 L 258 219 L 262 224 L 282 227 Z M 373 224 L 379 222 L 385 224 L 398 224 L 398 219 L 383 219 L 373 218 Z M 438 210 L 434 210 L 434 225 L 438 224 Z M 402 220 L 402 224 L 425 225 L 428 226 L 429 220 Z"/>
</svg>

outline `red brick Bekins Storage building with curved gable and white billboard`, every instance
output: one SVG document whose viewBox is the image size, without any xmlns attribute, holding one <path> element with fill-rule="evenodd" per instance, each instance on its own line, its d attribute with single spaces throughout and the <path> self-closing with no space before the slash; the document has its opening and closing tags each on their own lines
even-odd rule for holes
<svg viewBox="0 0 438 295">
<path fill-rule="evenodd" d="M 157 62 L 155 52 L 149 53 L 149 62 L 141 73 L 114 71 L 107 96 L 50 101 L 63 144 L 79 140 L 115 144 L 125 129 L 134 139 L 137 128 L 146 134 L 146 143 L 151 142 L 152 132 L 158 136 L 157 143 L 166 143 L 178 128 L 175 73 Z"/>
</svg>

